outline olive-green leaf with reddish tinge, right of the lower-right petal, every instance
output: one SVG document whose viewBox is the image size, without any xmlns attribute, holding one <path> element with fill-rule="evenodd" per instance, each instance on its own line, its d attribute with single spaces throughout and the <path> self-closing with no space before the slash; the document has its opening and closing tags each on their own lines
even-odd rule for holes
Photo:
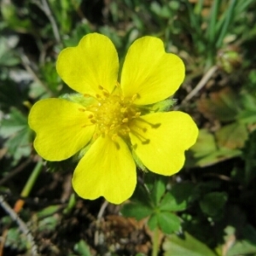
<svg viewBox="0 0 256 256">
<path fill-rule="evenodd" d="M 238 122 L 224 125 L 216 132 L 216 139 L 220 148 L 242 148 L 247 137 L 246 126 Z"/>
</svg>

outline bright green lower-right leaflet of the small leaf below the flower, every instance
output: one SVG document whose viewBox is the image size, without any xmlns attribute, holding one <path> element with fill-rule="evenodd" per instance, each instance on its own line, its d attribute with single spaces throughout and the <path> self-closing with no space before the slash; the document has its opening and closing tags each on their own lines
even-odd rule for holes
<svg viewBox="0 0 256 256">
<path fill-rule="evenodd" d="M 180 219 L 171 212 L 159 212 L 157 218 L 160 230 L 165 234 L 172 234 L 180 228 Z"/>
</svg>

